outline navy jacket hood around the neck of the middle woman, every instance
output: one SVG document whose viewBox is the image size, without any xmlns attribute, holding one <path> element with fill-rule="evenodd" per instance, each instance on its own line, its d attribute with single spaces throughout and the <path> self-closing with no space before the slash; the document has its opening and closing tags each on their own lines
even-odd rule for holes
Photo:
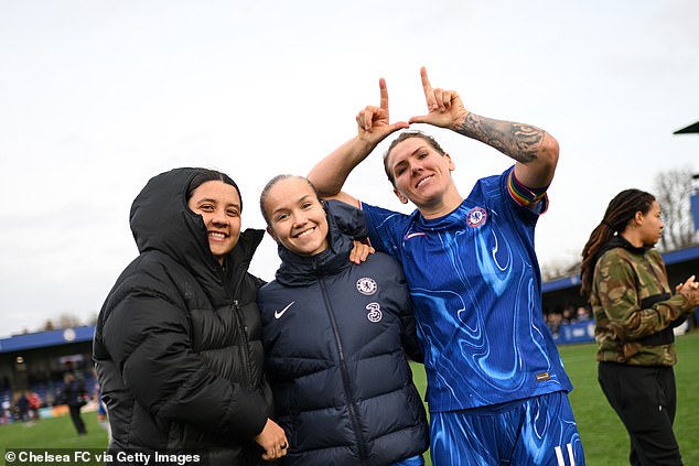
<svg viewBox="0 0 699 466">
<path fill-rule="evenodd" d="M 354 240 L 363 240 L 368 234 L 364 213 L 337 201 L 323 202 L 327 218 L 329 248 L 315 256 L 299 256 L 278 245 L 281 265 L 276 279 L 286 286 L 308 286 L 319 275 L 331 275 L 351 267 L 350 251 Z"/>
</svg>

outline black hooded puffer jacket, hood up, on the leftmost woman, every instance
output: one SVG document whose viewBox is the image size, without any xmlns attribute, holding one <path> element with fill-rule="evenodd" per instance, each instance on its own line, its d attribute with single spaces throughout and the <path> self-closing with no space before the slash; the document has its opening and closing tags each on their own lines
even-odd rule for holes
<svg viewBox="0 0 699 466">
<path fill-rule="evenodd" d="M 225 267 L 189 209 L 195 171 L 153 177 L 131 207 L 140 256 L 99 314 L 94 359 L 110 448 L 204 448 L 209 465 L 255 465 L 270 415 L 262 377 L 262 281 L 247 272 L 262 230 L 246 230 Z"/>
</svg>

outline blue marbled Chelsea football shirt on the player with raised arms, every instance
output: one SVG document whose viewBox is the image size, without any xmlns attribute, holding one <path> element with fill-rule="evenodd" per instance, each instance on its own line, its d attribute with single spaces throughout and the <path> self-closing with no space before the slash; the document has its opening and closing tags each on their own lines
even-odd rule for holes
<svg viewBox="0 0 699 466">
<path fill-rule="evenodd" d="M 480 180 L 437 219 L 362 204 L 372 245 L 400 261 L 408 279 L 430 411 L 572 389 L 541 310 L 538 214 L 510 197 L 512 170 Z"/>
</svg>

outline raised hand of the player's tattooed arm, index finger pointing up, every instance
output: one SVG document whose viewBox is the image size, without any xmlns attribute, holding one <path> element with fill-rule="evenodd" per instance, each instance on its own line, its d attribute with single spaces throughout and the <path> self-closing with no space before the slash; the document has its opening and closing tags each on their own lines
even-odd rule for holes
<svg viewBox="0 0 699 466">
<path fill-rule="evenodd" d="M 428 113 L 410 118 L 410 123 L 428 123 L 440 128 L 459 131 L 469 111 L 464 108 L 455 90 L 432 88 L 427 76 L 426 67 L 420 68 L 422 90 L 427 102 Z"/>
</svg>

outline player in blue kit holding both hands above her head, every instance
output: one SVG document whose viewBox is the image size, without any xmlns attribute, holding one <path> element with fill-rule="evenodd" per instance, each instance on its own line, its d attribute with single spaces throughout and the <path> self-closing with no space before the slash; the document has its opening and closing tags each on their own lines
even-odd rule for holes
<svg viewBox="0 0 699 466">
<path fill-rule="evenodd" d="M 424 68 L 420 75 L 428 115 L 390 123 L 380 79 L 379 106 L 357 113 L 357 136 L 309 178 L 323 197 L 361 205 L 372 246 L 402 264 L 424 348 L 432 463 L 581 466 L 572 386 L 544 321 L 534 249 L 558 142 L 529 124 L 477 116 L 454 90 L 433 88 Z M 484 142 L 514 166 L 477 181 L 464 198 L 451 176 L 455 160 L 432 137 L 405 131 L 384 167 L 398 199 L 417 210 L 404 215 L 343 193 L 352 170 L 410 123 Z"/>
</svg>

